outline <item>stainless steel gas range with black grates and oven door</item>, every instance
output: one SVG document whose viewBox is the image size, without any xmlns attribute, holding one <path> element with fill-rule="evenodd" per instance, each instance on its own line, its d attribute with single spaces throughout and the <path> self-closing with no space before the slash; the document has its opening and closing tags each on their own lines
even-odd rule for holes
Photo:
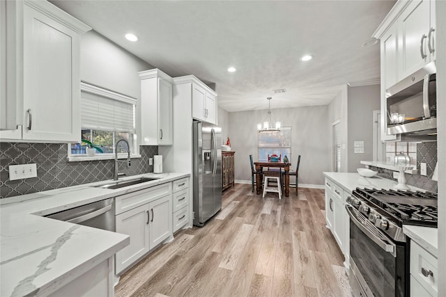
<svg viewBox="0 0 446 297">
<path fill-rule="evenodd" d="M 437 225 L 436 193 L 356 188 L 350 216 L 353 296 L 409 296 L 409 242 L 403 224 Z"/>
</svg>

